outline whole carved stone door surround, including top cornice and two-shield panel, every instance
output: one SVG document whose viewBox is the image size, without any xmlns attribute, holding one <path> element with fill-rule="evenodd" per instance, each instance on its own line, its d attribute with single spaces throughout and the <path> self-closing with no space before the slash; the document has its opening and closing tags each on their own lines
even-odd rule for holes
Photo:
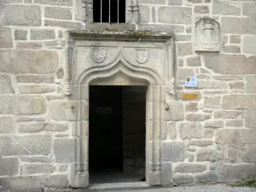
<svg viewBox="0 0 256 192">
<path fill-rule="evenodd" d="M 141 34 L 140 32 L 99 32 L 92 36 L 90 32 L 70 32 L 69 43 L 73 46 L 66 51 L 70 58 L 68 66 L 72 68 L 67 76 L 72 77 L 70 82 L 73 82 L 73 95 L 70 98 L 79 102 L 76 108 L 77 123 L 73 132 L 77 141 L 75 160 L 71 170 L 71 184 L 74 188 L 89 186 L 88 140 L 90 136 L 84 134 L 87 132 L 84 130 L 89 129 L 89 88 L 90 85 L 99 84 L 148 86 L 146 182 L 148 185 L 171 182 L 166 183 L 162 180 L 164 173 L 161 169 L 159 136 L 161 130 L 165 130 L 166 124 L 152 124 L 152 122 L 166 122 L 167 84 L 165 82 L 173 83 L 174 77 L 172 36 L 160 33 Z M 107 50 L 108 56 L 106 56 Z M 97 51 L 100 52 L 97 54 Z"/>
</svg>

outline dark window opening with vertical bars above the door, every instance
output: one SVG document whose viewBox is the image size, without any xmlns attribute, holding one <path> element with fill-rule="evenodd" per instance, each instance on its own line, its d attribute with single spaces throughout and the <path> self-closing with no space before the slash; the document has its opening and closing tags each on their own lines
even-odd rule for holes
<svg viewBox="0 0 256 192">
<path fill-rule="evenodd" d="M 125 23 L 125 0 L 93 0 L 93 21 Z"/>
</svg>

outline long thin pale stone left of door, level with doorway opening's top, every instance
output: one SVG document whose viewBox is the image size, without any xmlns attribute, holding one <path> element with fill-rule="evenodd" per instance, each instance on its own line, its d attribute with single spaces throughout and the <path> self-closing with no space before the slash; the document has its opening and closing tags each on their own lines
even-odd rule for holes
<svg viewBox="0 0 256 192">
<path fill-rule="evenodd" d="M 54 84 L 32 84 L 32 85 L 19 85 L 18 90 L 20 94 L 44 94 L 55 91 Z"/>
</svg>

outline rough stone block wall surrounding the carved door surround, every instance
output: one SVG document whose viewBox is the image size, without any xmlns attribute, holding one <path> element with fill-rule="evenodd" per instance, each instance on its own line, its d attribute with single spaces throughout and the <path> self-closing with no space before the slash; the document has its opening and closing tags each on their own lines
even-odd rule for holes
<svg viewBox="0 0 256 192">
<path fill-rule="evenodd" d="M 177 102 L 167 101 L 166 130 L 160 136 L 166 180 L 234 182 L 256 174 L 255 1 L 139 3 L 140 24 L 128 29 L 174 33 Z M 0 2 L 3 189 L 43 186 L 49 192 L 70 185 L 75 114 L 66 114 L 67 106 L 62 106 L 62 114 L 55 110 L 68 100 L 60 84 L 65 32 L 105 27 L 85 26 L 80 4 L 80 0 Z M 194 51 L 194 24 L 202 16 L 220 23 L 219 53 Z M 198 77 L 198 89 L 183 87 L 187 75 Z M 199 99 L 183 101 L 184 92 L 198 93 Z"/>
</svg>

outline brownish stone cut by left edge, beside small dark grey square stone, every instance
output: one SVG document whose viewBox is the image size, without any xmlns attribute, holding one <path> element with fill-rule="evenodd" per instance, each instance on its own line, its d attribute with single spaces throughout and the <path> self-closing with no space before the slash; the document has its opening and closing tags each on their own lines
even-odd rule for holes
<svg viewBox="0 0 256 192">
<path fill-rule="evenodd" d="M 1 5 L 0 5 L 1 10 Z M 0 48 L 12 48 L 13 39 L 11 29 L 9 27 L 0 27 Z"/>
</svg>

